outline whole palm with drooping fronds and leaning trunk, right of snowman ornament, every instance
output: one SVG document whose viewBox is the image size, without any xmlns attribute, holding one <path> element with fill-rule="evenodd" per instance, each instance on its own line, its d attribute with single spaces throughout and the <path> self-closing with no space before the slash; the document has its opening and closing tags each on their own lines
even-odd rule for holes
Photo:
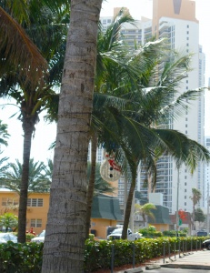
<svg viewBox="0 0 210 273">
<path fill-rule="evenodd" d="M 198 162 L 196 152 L 200 159 L 209 158 L 207 150 L 195 141 L 175 130 L 161 129 L 158 126 L 166 124 L 169 114 L 177 118 L 185 110 L 186 99 L 195 99 L 200 92 L 200 90 L 185 92 L 175 101 L 172 100 L 177 96 L 178 86 L 189 69 L 190 56 L 174 55 L 174 59 L 165 62 L 164 69 L 157 75 L 158 66 L 166 59 L 163 53 L 158 54 L 161 46 L 161 41 L 149 43 L 143 47 L 142 55 L 136 57 L 142 71 L 137 77 L 140 88 L 127 93 L 122 92 L 121 88 L 121 96 L 116 97 L 113 92 L 109 100 L 104 94 L 96 94 L 94 101 L 92 123 L 100 132 L 99 143 L 109 151 L 122 147 L 127 159 L 129 158 L 133 175 L 125 210 L 125 237 L 135 190 L 136 170 L 140 160 L 149 163 L 152 171 L 155 170 L 156 158 L 165 153 L 175 157 L 177 163 L 184 161 L 192 169 Z M 134 61 L 136 62 L 135 59 Z M 171 109 L 174 116 L 170 113 Z"/>
</svg>

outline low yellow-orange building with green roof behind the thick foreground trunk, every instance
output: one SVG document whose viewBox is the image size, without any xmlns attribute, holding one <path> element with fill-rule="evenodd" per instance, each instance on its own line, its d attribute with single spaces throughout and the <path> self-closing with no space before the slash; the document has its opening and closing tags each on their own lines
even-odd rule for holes
<svg viewBox="0 0 210 273">
<path fill-rule="evenodd" d="M 13 212 L 18 216 L 19 195 L 15 192 L 0 191 L 0 215 Z M 30 193 L 27 200 L 27 214 L 25 230 L 31 227 L 35 234 L 39 234 L 46 227 L 49 209 L 49 193 Z M 94 197 L 90 232 L 95 237 L 106 238 L 107 227 L 115 227 L 118 220 L 122 220 L 119 200 L 116 197 L 98 195 Z"/>
</svg>

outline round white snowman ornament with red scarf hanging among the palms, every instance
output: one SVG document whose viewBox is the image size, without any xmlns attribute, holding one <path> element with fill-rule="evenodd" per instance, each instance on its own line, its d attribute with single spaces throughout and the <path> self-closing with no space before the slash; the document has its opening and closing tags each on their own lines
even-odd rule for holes
<svg viewBox="0 0 210 273">
<path fill-rule="evenodd" d="M 115 163 L 115 154 L 105 153 L 105 161 L 100 168 L 101 177 L 107 182 L 115 182 L 121 177 L 121 169 Z"/>
</svg>

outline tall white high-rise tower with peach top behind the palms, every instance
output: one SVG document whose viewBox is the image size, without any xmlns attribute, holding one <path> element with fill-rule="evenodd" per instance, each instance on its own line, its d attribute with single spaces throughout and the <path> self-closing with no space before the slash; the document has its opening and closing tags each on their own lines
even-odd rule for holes
<svg viewBox="0 0 210 273">
<path fill-rule="evenodd" d="M 116 10 L 115 10 L 116 11 Z M 103 17 L 103 25 L 111 17 Z M 172 49 L 180 53 L 192 53 L 192 71 L 183 80 L 180 86 L 180 94 L 186 90 L 193 90 L 205 86 L 205 55 L 202 46 L 199 45 L 199 22 L 195 18 L 195 1 L 191 0 L 153 0 L 153 18 L 142 18 L 136 25 L 125 25 L 122 30 L 125 42 L 132 46 L 144 44 L 152 35 L 166 37 Z M 184 133 L 205 146 L 205 96 L 191 102 L 185 108 L 185 115 L 171 121 L 168 127 Z M 200 207 L 205 207 L 205 165 L 200 163 L 192 175 L 189 170 L 182 166 L 178 170 L 171 157 L 163 157 L 157 165 L 157 182 L 155 192 L 164 195 L 164 206 L 174 214 L 178 207 L 192 212 L 193 204 L 192 187 L 200 189 L 202 200 Z M 148 189 L 144 187 L 144 173 L 138 173 L 136 190 L 147 197 Z M 177 200 L 177 185 L 179 182 L 179 200 Z M 123 195 L 124 181 L 119 181 L 119 194 Z M 119 196 L 123 202 L 124 198 Z"/>
</svg>

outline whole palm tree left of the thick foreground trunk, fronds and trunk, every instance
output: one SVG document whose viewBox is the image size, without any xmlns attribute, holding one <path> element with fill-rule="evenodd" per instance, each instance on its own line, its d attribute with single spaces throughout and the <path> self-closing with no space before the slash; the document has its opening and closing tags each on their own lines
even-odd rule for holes
<svg viewBox="0 0 210 273">
<path fill-rule="evenodd" d="M 23 10 L 25 11 L 24 15 L 26 14 L 26 17 L 17 13 L 16 2 L 14 2 L 13 5 L 10 5 L 5 1 L 0 2 L 0 4 L 5 7 L 5 10 L 10 13 L 10 15 L 13 15 L 13 18 L 9 15 L 5 16 L 6 18 L 9 17 L 12 22 L 15 22 L 15 27 L 11 27 L 11 29 L 14 29 L 15 31 L 15 29 L 18 28 L 18 30 L 20 30 L 20 35 L 22 36 L 20 40 L 17 39 L 17 43 L 21 43 L 22 39 L 26 37 L 26 45 L 33 45 L 33 48 L 37 45 L 42 52 L 42 55 L 45 56 L 45 66 L 35 66 L 34 71 L 34 67 L 33 69 L 31 67 L 34 66 L 33 60 L 38 60 L 38 56 L 36 57 L 33 55 L 32 61 L 29 64 L 25 65 L 25 63 L 20 63 L 21 66 L 16 66 L 16 62 L 19 62 L 19 60 L 16 57 L 16 50 L 13 45 L 10 44 L 10 47 L 6 49 L 8 52 L 15 52 L 15 55 L 11 56 L 11 58 L 4 55 L 5 52 L 7 52 L 5 51 L 5 46 L 7 44 L 4 44 L 5 46 L 0 48 L 1 59 L 10 60 L 8 61 L 9 66 L 4 66 L 5 70 L 0 74 L 0 96 L 10 96 L 15 99 L 20 110 L 18 118 L 21 120 L 24 130 L 23 173 L 18 211 L 19 242 L 25 242 L 29 160 L 35 124 L 39 121 L 39 114 L 43 112 L 45 108 L 54 105 L 55 91 L 52 89 L 52 86 L 55 86 L 61 78 L 63 67 L 62 56 L 65 53 L 65 34 L 67 29 L 67 25 L 63 25 L 62 23 L 66 23 L 64 15 L 69 14 L 69 11 L 66 11 L 65 8 L 65 2 L 66 1 L 60 3 L 59 1 L 43 0 L 37 5 L 35 1 L 29 1 L 23 6 Z M 50 9 L 49 5 L 52 5 L 53 8 Z M 3 8 L 1 11 L 2 10 Z M 18 22 L 19 25 L 16 22 Z M 49 24 L 49 22 L 51 24 Z M 20 25 L 22 25 L 22 27 Z M 3 28 L 4 27 L 5 25 L 3 25 Z M 23 27 L 25 27 L 25 32 L 28 34 L 27 36 L 23 31 Z M 19 34 L 19 32 L 17 33 Z M 4 41 L 7 41 L 8 35 L 12 34 L 7 31 L 7 28 L 5 27 L 3 35 Z M 20 46 L 20 48 L 22 47 Z M 33 51 L 33 48 L 32 52 L 35 51 Z M 31 47 L 29 49 L 31 49 Z M 41 58 L 44 60 L 44 57 Z M 14 62 L 11 63 L 13 59 Z M 27 66 L 29 68 L 27 68 Z M 23 70 L 26 70 L 27 74 L 32 74 L 32 76 L 25 76 Z M 45 76 L 46 74 L 47 77 Z M 34 78 L 33 75 L 37 75 L 37 78 Z"/>
</svg>

